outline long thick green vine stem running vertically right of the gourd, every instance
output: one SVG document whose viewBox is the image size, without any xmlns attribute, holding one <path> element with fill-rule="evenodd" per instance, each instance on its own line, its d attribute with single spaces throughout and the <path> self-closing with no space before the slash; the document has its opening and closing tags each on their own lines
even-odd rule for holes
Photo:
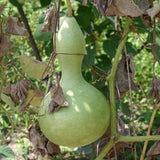
<svg viewBox="0 0 160 160">
<path fill-rule="evenodd" d="M 125 46 L 127 36 L 130 30 L 132 20 L 127 17 L 126 24 L 124 27 L 124 32 L 122 35 L 122 39 L 119 43 L 116 56 L 114 59 L 114 63 L 112 66 L 112 70 L 110 75 L 108 76 L 107 80 L 109 81 L 109 94 L 110 94 L 110 108 L 111 108 L 111 139 L 108 142 L 108 144 L 105 146 L 104 150 L 99 154 L 99 156 L 96 158 L 96 160 L 101 160 L 106 155 L 106 153 L 113 147 L 114 145 L 114 139 L 116 138 L 117 129 L 116 129 L 116 105 L 115 105 L 115 74 L 118 66 L 118 62 L 120 59 L 120 56 L 122 54 L 123 48 Z"/>
</svg>

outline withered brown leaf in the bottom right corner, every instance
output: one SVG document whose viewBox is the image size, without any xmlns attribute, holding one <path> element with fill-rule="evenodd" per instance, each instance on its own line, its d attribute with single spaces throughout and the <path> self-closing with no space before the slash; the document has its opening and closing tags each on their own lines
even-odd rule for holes
<svg viewBox="0 0 160 160">
<path fill-rule="evenodd" d="M 156 158 L 160 155 L 160 141 L 156 141 L 147 152 L 147 158 Z"/>
</svg>

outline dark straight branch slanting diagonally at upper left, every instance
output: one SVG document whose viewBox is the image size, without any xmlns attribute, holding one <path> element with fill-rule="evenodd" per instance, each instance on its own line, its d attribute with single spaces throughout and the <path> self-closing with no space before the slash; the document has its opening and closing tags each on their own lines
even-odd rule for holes
<svg viewBox="0 0 160 160">
<path fill-rule="evenodd" d="M 35 42 L 35 40 L 33 38 L 33 35 L 32 35 L 32 32 L 31 32 L 31 28 L 29 26 L 29 23 L 28 23 L 26 15 L 25 15 L 25 13 L 23 11 L 23 8 L 22 7 L 17 7 L 17 9 L 18 9 L 18 11 L 19 11 L 19 13 L 20 13 L 20 15 L 22 17 L 22 21 L 24 23 L 25 28 L 27 29 L 27 31 L 29 33 L 29 40 L 30 40 L 34 55 L 35 55 L 37 60 L 41 61 L 41 57 L 40 57 L 40 53 L 39 53 L 38 47 L 37 47 L 36 42 Z"/>
</svg>

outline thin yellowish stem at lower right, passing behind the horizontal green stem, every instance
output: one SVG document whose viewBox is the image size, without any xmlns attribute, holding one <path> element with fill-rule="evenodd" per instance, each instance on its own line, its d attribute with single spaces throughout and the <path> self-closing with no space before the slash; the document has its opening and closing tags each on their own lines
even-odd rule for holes
<svg viewBox="0 0 160 160">
<path fill-rule="evenodd" d="M 152 116 L 151 116 L 151 119 L 150 119 L 150 123 L 149 123 L 149 127 L 148 127 L 148 131 L 147 131 L 147 136 L 149 136 L 150 133 L 151 133 L 153 121 L 154 121 L 156 112 L 157 112 L 159 107 L 160 107 L 160 103 L 158 105 L 156 105 L 154 110 L 153 110 L 153 113 L 152 113 Z M 141 154 L 140 160 L 144 160 L 144 156 L 145 156 L 145 153 L 146 153 L 147 145 L 148 145 L 148 141 L 146 140 L 145 143 L 144 143 L 144 146 L 143 146 L 143 150 L 142 150 L 142 154 Z"/>
</svg>

